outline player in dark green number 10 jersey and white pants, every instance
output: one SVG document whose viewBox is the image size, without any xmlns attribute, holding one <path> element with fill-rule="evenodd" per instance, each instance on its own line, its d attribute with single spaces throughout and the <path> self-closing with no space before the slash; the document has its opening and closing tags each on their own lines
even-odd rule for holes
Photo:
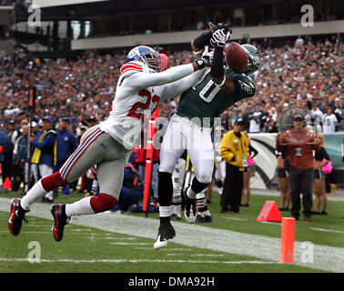
<svg viewBox="0 0 344 291">
<path fill-rule="evenodd" d="M 224 49 L 231 29 L 228 25 L 210 24 L 210 31 L 195 38 L 191 47 L 195 55 L 202 54 L 205 45 L 215 46 L 211 66 L 200 75 L 199 82 L 184 92 L 179 99 L 177 112 L 167 125 L 160 151 L 158 196 L 159 218 L 156 249 L 167 246 L 167 240 L 176 235 L 170 223 L 173 196 L 172 173 L 178 158 L 187 149 L 195 168 L 191 186 L 183 191 L 185 216 L 195 221 L 196 196 L 212 181 L 214 147 L 211 130 L 214 121 L 231 105 L 255 94 L 256 87 L 248 77 L 260 66 L 258 49 L 243 45 L 248 54 L 246 74 L 236 74 L 224 66 Z M 208 54 L 207 54 L 208 55 Z"/>
</svg>

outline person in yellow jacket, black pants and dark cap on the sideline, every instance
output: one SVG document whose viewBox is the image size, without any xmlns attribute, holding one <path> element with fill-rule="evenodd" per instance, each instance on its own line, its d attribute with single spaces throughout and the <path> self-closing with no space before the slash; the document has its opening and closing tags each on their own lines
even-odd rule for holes
<svg viewBox="0 0 344 291">
<path fill-rule="evenodd" d="M 239 213 L 243 175 L 248 170 L 249 141 L 242 133 L 245 122 L 239 118 L 234 129 L 222 137 L 220 156 L 226 161 L 226 178 L 221 195 L 221 213 Z M 230 208 L 228 207 L 230 206 Z"/>
</svg>

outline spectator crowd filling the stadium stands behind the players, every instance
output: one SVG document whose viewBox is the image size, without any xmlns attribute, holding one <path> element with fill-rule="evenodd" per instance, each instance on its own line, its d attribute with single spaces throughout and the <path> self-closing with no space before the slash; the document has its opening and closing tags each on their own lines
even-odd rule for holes
<svg viewBox="0 0 344 291">
<path fill-rule="evenodd" d="M 238 118 L 244 119 L 247 132 L 277 132 L 278 116 L 291 105 L 309 107 L 319 131 L 344 130 L 340 35 L 316 43 L 310 36 L 299 36 L 295 42 L 288 40 L 282 47 L 275 47 L 268 39 L 248 42 L 257 45 L 261 55 L 262 67 L 251 75 L 257 87 L 256 95 L 238 102 L 222 115 L 225 133 Z M 191 50 L 159 49 L 168 56 L 169 67 L 190 62 L 195 57 Z M 5 140 L 2 142 L 0 136 L 0 146 L 14 150 L 9 135 L 15 130 L 20 132 L 29 118 L 27 94 L 33 85 L 36 86 L 34 120 L 38 128 L 48 115 L 54 128 L 58 129 L 64 119 L 68 129 L 79 137 L 90 126 L 90 119 L 104 120 L 116 95 L 119 68 L 126 62 L 126 53 L 124 50 L 115 55 L 97 55 L 87 51 L 76 60 L 42 61 L 21 50 L 13 57 L 0 52 L 0 131 Z M 161 103 L 159 115 L 169 118 L 177 104 L 178 96 Z M 331 129 L 324 127 L 329 115 Z"/>
</svg>

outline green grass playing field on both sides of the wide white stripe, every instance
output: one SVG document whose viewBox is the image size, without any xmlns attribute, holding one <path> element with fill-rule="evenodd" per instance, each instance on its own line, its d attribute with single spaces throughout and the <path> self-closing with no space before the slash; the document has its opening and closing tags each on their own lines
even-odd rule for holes
<svg viewBox="0 0 344 291">
<path fill-rule="evenodd" d="M 17 196 L 16 193 L 1 197 Z M 57 197 L 55 203 L 71 203 L 82 197 L 71 194 Z M 250 206 L 242 207 L 244 214 L 219 213 L 219 197 L 214 193 L 209 206 L 213 223 L 197 224 L 243 234 L 280 237 L 280 224 L 259 223 L 256 218 L 266 200 L 272 196 L 251 196 Z M 8 205 L 9 206 L 9 205 Z M 328 216 L 313 216 L 313 223 L 302 220 L 296 225 L 296 241 L 310 241 L 316 245 L 344 247 L 344 203 L 329 201 Z M 146 219 L 144 213 L 126 214 Z M 289 216 L 282 212 L 282 216 Z M 12 236 L 7 227 L 8 212 L 0 211 L 0 272 L 1 273 L 309 273 L 328 272 L 294 264 L 279 264 L 254 256 L 241 256 L 211 249 L 179 245 L 172 241 L 167 248 L 154 250 L 151 239 L 128 236 L 94 227 L 66 226 L 65 238 L 56 242 L 50 229 L 53 219 L 27 215 L 29 223 L 23 225 L 19 236 Z M 157 218 L 157 213 L 149 213 Z M 302 218 L 302 216 L 301 216 Z M 73 220 L 72 220 L 73 222 Z M 195 238 L 197 239 L 197 237 Z M 40 262 L 30 263 L 30 242 L 38 242 Z M 33 243 L 31 243 L 33 244 Z M 35 244 L 35 243 L 34 243 Z M 32 254 L 32 253 L 31 253 Z"/>
</svg>

